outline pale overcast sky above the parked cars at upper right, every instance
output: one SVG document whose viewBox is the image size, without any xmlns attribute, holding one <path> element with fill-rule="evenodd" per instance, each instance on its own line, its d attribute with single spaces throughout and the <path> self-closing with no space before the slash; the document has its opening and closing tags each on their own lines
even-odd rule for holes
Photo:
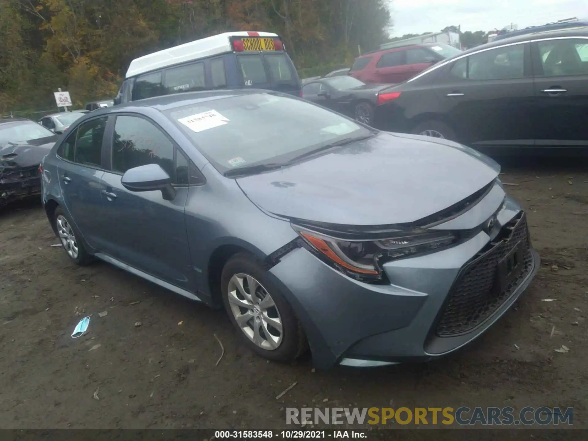
<svg viewBox="0 0 588 441">
<path fill-rule="evenodd" d="M 519 29 L 577 17 L 588 19 L 588 0 L 392 0 L 392 36 L 439 32 L 462 25 L 490 31 L 514 23 Z"/>
</svg>

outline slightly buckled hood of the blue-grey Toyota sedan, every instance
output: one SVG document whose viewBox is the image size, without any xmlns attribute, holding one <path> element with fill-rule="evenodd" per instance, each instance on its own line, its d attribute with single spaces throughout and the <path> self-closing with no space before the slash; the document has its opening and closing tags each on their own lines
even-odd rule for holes
<svg viewBox="0 0 588 441">
<path fill-rule="evenodd" d="M 237 182 L 286 218 L 343 225 L 412 223 L 492 182 L 499 166 L 458 143 L 380 132 L 288 168 Z"/>
</svg>

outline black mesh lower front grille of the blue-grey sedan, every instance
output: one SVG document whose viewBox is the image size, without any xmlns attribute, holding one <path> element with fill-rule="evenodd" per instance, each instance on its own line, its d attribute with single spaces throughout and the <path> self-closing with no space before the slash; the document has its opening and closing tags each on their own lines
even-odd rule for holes
<svg viewBox="0 0 588 441">
<path fill-rule="evenodd" d="M 523 268 L 505 289 L 500 290 L 497 288 L 498 263 L 519 242 L 522 247 Z M 462 269 L 437 323 L 437 336 L 462 335 L 481 325 L 510 298 L 532 269 L 533 256 L 526 216 L 520 213 L 502 228 L 494 242 Z"/>
</svg>

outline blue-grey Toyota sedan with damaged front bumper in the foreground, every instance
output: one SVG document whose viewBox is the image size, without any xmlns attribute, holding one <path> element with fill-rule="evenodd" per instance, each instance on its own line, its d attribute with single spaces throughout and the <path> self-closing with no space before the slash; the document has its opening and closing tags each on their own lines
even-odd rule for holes
<svg viewBox="0 0 588 441">
<path fill-rule="evenodd" d="M 438 358 L 485 332 L 539 268 L 494 161 L 279 92 L 143 99 L 66 135 L 41 164 L 65 256 L 224 307 L 268 359 Z"/>
</svg>

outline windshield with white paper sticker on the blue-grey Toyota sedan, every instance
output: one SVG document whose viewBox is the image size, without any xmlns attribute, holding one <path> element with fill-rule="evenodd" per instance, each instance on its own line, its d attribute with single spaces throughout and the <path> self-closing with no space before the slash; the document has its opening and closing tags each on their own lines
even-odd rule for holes
<svg viewBox="0 0 588 441">
<path fill-rule="evenodd" d="M 286 163 L 338 140 L 372 133 L 295 98 L 252 93 L 164 112 L 223 173 L 263 163 Z"/>
</svg>

